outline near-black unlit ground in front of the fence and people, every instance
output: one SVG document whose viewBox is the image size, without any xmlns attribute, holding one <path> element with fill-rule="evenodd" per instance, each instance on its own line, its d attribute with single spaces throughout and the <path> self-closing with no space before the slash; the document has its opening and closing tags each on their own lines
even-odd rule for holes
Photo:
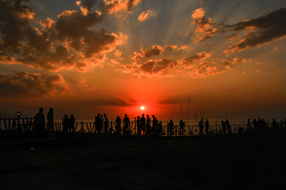
<svg viewBox="0 0 286 190">
<path fill-rule="evenodd" d="M 6 144 L 0 189 L 286 189 L 285 137 L 279 131 Z"/>
</svg>

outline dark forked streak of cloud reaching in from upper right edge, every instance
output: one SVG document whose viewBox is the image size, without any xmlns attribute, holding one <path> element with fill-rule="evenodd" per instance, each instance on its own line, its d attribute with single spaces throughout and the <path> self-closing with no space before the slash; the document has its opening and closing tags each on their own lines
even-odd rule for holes
<svg viewBox="0 0 286 190">
<path fill-rule="evenodd" d="M 286 8 L 280 8 L 260 18 L 246 20 L 235 25 L 224 25 L 225 29 L 234 31 L 253 29 L 246 33 L 237 44 L 227 49 L 241 51 L 249 47 L 256 47 L 261 44 L 273 42 L 276 39 L 286 36 Z"/>
</svg>

